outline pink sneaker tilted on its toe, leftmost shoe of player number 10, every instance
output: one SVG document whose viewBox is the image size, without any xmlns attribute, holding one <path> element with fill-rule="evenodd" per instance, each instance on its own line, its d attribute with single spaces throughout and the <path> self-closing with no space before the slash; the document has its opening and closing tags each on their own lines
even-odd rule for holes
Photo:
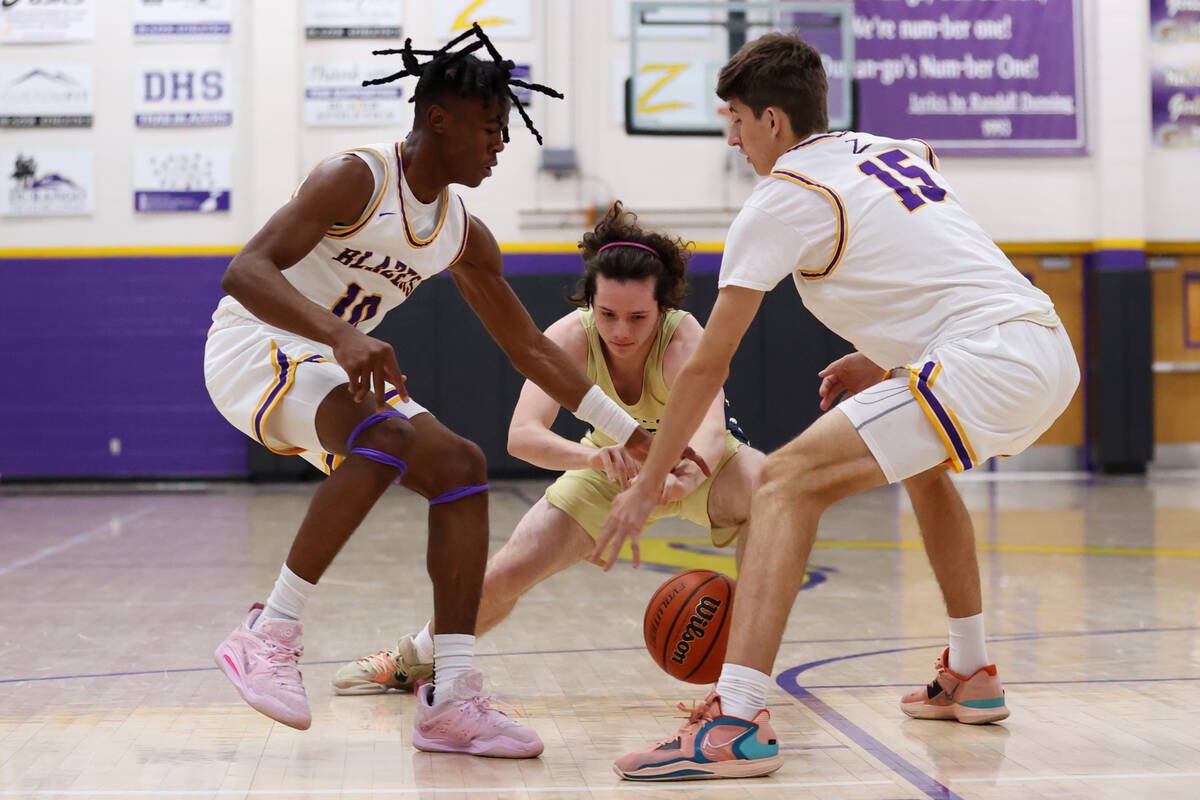
<svg viewBox="0 0 1200 800">
<path fill-rule="evenodd" d="M 306 730 L 312 724 L 312 714 L 298 667 L 304 652 L 300 644 L 304 626 L 286 619 L 265 619 L 260 630 L 252 631 L 262 613 L 262 603 L 251 606 L 246 619 L 217 646 L 214 657 L 250 708 Z"/>
</svg>

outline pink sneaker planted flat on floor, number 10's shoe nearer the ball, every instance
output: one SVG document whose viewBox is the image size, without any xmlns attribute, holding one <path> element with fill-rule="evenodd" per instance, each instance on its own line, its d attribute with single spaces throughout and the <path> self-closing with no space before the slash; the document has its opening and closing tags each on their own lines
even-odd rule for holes
<svg viewBox="0 0 1200 800">
<path fill-rule="evenodd" d="M 448 690 L 443 686 L 439 691 Z M 452 693 L 449 700 L 431 705 L 433 684 L 416 687 L 413 745 L 418 750 L 496 758 L 541 754 L 541 739 L 533 728 L 510 720 L 491 706 L 494 698 L 482 694 L 482 673 L 460 675 L 449 691 Z"/>
</svg>

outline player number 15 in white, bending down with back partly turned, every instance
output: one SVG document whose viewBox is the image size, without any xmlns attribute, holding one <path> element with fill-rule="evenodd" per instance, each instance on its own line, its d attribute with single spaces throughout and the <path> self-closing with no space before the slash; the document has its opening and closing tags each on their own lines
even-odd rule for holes
<svg viewBox="0 0 1200 800">
<path fill-rule="evenodd" d="M 902 481 L 950 616 L 950 646 L 929 686 L 901 700 L 922 718 L 1008 716 L 984 648 L 979 569 L 947 475 L 1032 444 L 1079 383 L 1050 299 L 967 216 L 920 140 L 827 133 L 820 54 L 796 36 L 745 44 L 721 70 L 728 144 L 766 180 L 725 243 L 720 291 L 650 455 L 593 558 L 635 545 L 670 458 L 725 383 L 762 296 L 791 276 L 805 306 L 858 350 L 821 372 L 830 414 L 769 455 L 716 690 L 678 734 L 616 763 L 634 780 L 746 777 L 781 764 L 766 697 L 822 512 Z M 799 343 L 798 343 L 799 344 Z"/>
</svg>

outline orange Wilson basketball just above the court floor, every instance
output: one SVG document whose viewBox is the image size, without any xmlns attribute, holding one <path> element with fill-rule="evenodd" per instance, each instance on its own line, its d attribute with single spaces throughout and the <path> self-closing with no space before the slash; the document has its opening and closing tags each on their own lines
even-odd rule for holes
<svg viewBox="0 0 1200 800">
<path fill-rule="evenodd" d="M 734 582 L 712 570 L 688 570 L 654 593 L 642 622 L 646 649 L 672 678 L 712 684 L 730 642 Z"/>
</svg>

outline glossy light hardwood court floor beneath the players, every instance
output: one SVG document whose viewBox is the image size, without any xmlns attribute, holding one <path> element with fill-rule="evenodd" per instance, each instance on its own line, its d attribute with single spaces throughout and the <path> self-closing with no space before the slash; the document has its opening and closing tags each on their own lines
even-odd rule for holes
<svg viewBox="0 0 1200 800">
<path fill-rule="evenodd" d="M 786 763 L 752 781 L 622 782 L 612 759 L 672 733 L 678 684 L 641 644 L 665 573 L 732 572 L 702 533 L 581 565 L 479 642 L 490 687 L 546 742 L 524 762 L 421 753 L 408 694 L 329 680 L 428 615 L 424 503 L 396 489 L 308 607 L 313 726 L 245 706 L 212 649 L 274 581 L 312 486 L 6 487 L 0 493 L 0 798 L 1200 796 L 1200 479 L 961 480 L 1008 721 L 906 718 L 944 614 L 902 493 L 827 515 L 775 668 Z M 544 485 L 498 485 L 493 549 Z"/>
</svg>

